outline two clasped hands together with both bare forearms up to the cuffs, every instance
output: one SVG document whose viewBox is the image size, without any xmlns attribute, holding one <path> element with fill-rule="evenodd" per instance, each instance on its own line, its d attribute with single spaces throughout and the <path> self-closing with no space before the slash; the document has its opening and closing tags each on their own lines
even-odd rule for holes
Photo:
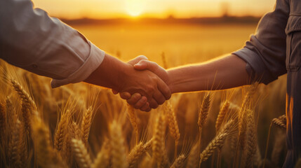
<svg viewBox="0 0 301 168">
<path fill-rule="evenodd" d="M 98 69 L 84 81 L 112 88 L 135 109 L 150 111 L 175 92 L 223 90 L 249 85 L 249 79 L 246 62 L 236 55 L 166 71 L 145 56 L 126 63 L 106 54 Z"/>
</svg>

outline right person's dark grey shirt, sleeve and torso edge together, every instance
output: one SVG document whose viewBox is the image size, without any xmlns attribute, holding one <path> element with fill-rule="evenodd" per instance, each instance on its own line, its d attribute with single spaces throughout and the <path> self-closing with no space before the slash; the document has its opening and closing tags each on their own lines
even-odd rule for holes
<svg viewBox="0 0 301 168">
<path fill-rule="evenodd" d="M 287 73 L 286 146 L 283 167 L 301 157 L 301 1 L 276 0 L 274 11 L 260 20 L 256 33 L 233 53 L 247 62 L 254 80 L 270 83 Z"/>
</svg>

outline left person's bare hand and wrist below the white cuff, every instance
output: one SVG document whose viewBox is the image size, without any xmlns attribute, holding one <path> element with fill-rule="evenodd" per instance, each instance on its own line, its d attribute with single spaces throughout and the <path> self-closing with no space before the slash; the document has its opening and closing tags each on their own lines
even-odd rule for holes
<svg viewBox="0 0 301 168">
<path fill-rule="evenodd" d="M 142 106 L 141 104 L 148 106 L 147 100 L 151 108 L 156 108 L 158 104 L 163 104 L 170 98 L 169 87 L 152 71 L 135 70 L 132 64 L 121 62 L 107 54 L 100 66 L 83 81 L 112 88 L 117 92 L 128 92 L 131 95 L 139 93 L 146 98 L 143 98 L 138 106 Z M 131 100 L 128 102 L 133 104 Z M 145 111 L 150 111 L 150 108 L 145 108 Z"/>
</svg>

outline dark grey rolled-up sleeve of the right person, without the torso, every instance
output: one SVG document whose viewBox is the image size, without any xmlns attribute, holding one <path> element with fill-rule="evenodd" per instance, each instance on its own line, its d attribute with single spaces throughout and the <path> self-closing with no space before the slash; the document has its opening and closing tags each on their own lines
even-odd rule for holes
<svg viewBox="0 0 301 168">
<path fill-rule="evenodd" d="M 277 0 L 273 12 L 260 20 L 255 35 L 244 48 L 233 52 L 247 62 L 253 80 L 270 83 L 286 73 L 286 24 L 290 8 L 287 0 Z"/>
</svg>

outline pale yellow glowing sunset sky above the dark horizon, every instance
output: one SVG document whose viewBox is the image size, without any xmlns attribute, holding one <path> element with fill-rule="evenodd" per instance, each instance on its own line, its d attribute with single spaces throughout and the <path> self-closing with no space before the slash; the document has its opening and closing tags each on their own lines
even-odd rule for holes
<svg viewBox="0 0 301 168">
<path fill-rule="evenodd" d="M 60 18 L 176 18 L 229 15 L 261 16 L 275 0 L 33 0 L 34 7 Z"/>
</svg>

